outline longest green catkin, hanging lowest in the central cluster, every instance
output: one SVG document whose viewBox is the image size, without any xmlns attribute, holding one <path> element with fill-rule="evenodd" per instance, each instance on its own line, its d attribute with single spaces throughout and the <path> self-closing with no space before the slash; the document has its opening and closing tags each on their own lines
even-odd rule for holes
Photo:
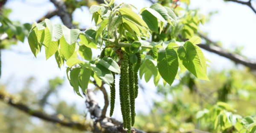
<svg viewBox="0 0 256 133">
<path fill-rule="evenodd" d="M 125 123 L 127 132 L 131 133 L 131 109 L 130 109 L 130 100 L 129 100 L 129 66 L 128 66 L 128 55 L 124 53 L 123 56 L 123 97 L 124 97 L 124 106 L 125 106 Z"/>
</svg>

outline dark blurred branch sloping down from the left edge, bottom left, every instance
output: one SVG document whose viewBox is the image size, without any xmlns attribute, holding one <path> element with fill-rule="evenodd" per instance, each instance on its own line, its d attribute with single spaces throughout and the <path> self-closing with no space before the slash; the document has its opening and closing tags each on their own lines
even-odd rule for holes
<svg viewBox="0 0 256 133">
<path fill-rule="evenodd" d="M 72 127 L 74 129 L 78 129 L 78 130 L 87 130 L 87 127 L 85 127 L 84 125 L 82 125 L 80 123 L 71 122 L 70 120 L 67 122 L 66 120 L 59 119 L 55 115 L 47 115 L 47 114 L 44 114 L 44 113 L 39 112 L 39 111 L 33 111 L 32 109 L 30 109 L 26 105 L 22 105 L 20 103 L 13 103 L 12 98 L 5 97 L 3 94 L 0 94 L 0 99 L 4 100 L 5 102 L 7 101 L 6 103 L 8 103 L 9 105 L 11 105 L 15 108 L 18 108 L 21 111 L 23 111 L 23 112 L 25 112 L 29 115 L 44 119 L 48 122 L 54 122 L 54 123 L 57 122 L 57 123 L 60 123 L 61 125 L 66 126 L 66 127 Z"/>
</svg>

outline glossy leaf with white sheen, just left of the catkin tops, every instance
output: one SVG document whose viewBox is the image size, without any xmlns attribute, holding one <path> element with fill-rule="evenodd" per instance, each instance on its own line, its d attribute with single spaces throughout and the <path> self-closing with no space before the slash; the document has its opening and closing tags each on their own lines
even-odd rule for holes
<svg viewBox="0 0 256 133">
<path fill-rule="evenodd" d="M 99 64 L 115 73 L 120 73 L 120 67 L 112 58 L 104 57 L 99 61 Z"/>
</svg>

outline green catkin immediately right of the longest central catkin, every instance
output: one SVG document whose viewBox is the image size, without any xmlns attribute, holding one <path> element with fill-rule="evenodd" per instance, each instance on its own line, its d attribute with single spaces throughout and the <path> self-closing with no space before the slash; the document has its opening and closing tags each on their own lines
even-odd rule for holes
<svg viewBox="0 0 256 133">
<path fill-rule="evenodd" d="M 134 86 L 134 69 L 133 64 L 129 61 L 129 94 L 131 104 L 131 126 L 135 122 L 135 86 Z"/>
</svg>

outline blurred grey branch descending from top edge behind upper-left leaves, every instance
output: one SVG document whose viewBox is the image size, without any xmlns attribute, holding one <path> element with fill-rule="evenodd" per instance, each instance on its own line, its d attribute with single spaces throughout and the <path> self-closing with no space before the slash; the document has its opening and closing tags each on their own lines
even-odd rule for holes
<svg viewBox="0 0 256 133">
<path fill-rule="evenodd" d="M 65 2 L 62 0 L 50 0 L 56 7 L 57 15 L 61 17 L 61 20 L 67 28 L 74 29 L 76 28 L 75 25 L 72 23 L 72 17 L 67 12 L 67 7 L 65 5 Z"/>
</svg>

